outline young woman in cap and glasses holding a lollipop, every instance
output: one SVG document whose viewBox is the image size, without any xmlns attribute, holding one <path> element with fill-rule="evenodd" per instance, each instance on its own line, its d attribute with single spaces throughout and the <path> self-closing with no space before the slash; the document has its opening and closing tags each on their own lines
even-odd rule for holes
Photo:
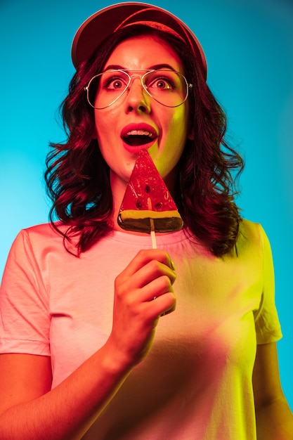
<svg viewBox="0 0 293 440">
<path fill-rule="evenodd" d="M 72 58 L 46 172 L 59 221 L 20 232 L 1 286 L 0 438 L 291 438 L 271 250 L 233 200 L 242 159 L 196 37 L 118 4 Z M 158 249 L 117 224 L 142 149 L 184 221 Z"/>
</svg>

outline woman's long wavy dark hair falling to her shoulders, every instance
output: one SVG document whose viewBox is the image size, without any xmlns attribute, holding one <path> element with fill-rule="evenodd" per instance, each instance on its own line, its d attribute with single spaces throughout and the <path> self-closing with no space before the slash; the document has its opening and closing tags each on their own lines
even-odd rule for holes
<svg viewBox="0 0 293 440">
<path fill-rule="evenodd" d="M 241 221 L 235 195 L 244 162 L 225 140 L 226 115 L 190 48 L 173 35 L 144 25 L 126 27 L 105 39 L 70 82 L 60 106 L 67 141 L 51 143 L 46 157 L 45 181 L 53 202 L 51 224 L 63 235 L 65 247 L 73 238 L 77 240 L 77 255 L 112 229 L 110 172 L 94 138 L 94 114 L 84 87 L 103 70 L 120 41 L 142 34 L 156 34 L 169 42 L 193 84 L 188 100 L 194 140 L 186 141 L 178 164 L 175 201 L 185 230 L 220 257 L 235 248 Z M 56 216 L 59 222 L 53 221 Z M 65 231 L 60 224 L 67 226 Z"/>
</svg>

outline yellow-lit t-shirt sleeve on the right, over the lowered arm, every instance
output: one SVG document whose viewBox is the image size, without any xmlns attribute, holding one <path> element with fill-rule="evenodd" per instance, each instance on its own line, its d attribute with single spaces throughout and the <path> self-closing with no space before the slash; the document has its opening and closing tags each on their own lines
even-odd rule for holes
<svg viewBox="0 0 293 440">
<path fill-rule="evenodd" d="M 282 337 L 278 311 L 275 306 L 273 256 L 268 237 L 259 226 L 263 254 L 263 292 L 259 309 L 254 311 L 257 344 L 276 342 Z"/>
</svg>

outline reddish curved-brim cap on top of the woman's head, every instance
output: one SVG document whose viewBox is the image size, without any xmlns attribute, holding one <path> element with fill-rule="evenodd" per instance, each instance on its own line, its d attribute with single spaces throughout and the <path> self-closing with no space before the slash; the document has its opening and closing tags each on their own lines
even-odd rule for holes
<svg viewBox="0 0 293 440">
<path fill-rule="evenodd" d="M 200 62 L 202 72 L 207 77 L 207 62 L 204 51 L 195 34 L 183 21 L 165 9 L 150 4 L 126 2 L 103 8 L 85 20 L 77 30 L 72 42 L 72 63 L 75 68 L 87 60 L 96 47 L 113 34 L 122 23 L 157 22 L 174 30 L 193 49 Z"/>
</svg>

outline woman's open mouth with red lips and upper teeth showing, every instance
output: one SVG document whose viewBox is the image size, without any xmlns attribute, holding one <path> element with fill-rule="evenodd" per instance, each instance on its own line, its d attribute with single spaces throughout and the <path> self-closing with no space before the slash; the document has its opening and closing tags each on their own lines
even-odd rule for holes
<svg viewBox="0 0 293 440">
<path fill-rule="evenodd" d="M 128 124 L 121 131 L 124 148 L 131 151 L 133 148 L 149 148 L 157 139 L 157 132 L 149 124 Z"/>
</svg>

